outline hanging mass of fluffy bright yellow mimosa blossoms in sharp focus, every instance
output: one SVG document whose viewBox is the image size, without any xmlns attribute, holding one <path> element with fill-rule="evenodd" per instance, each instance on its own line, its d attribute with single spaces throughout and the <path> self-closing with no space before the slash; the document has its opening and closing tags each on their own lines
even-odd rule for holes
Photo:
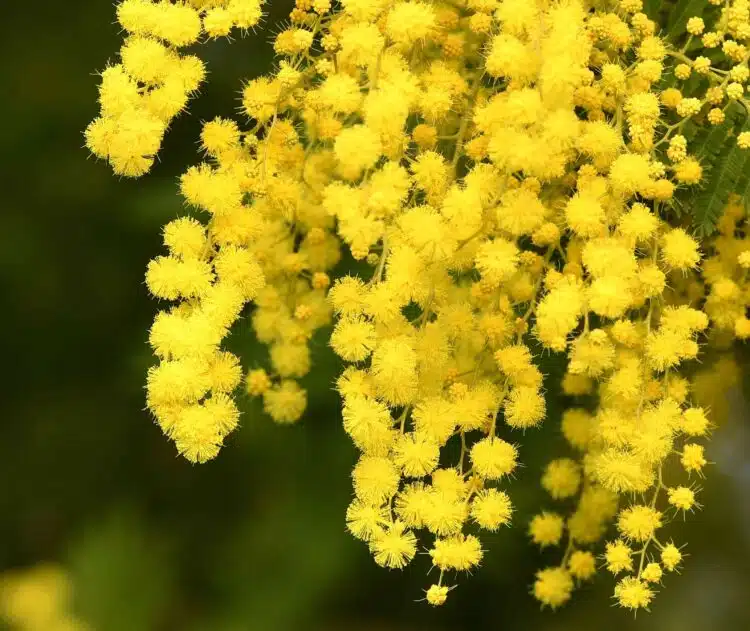
<svg viewBox="0 0 750 631">
<path fill-rule="evenodd" d="M 89 149 L 149 170 L 205 75 L 180 48 L 261 9 L 123 0 Z M 297 0 L 239 120 L 204 124 L 180 179 L 191 212 L 146 273 L 169 301 L 148 406 L 178 451 L 218 453 L 243 375 L 271 418 L 299 420 L 309 341 L 333 323 L 360 452 L 347 527 L 386 568 L 425 552 L 440 605 L 481 564 L 483 532 L 525 521 L 509 482 L 546 417 L 544 356 L 563 354 L 570 450 L 541 472 L 550 503 L 527 526 L 561 554 L 532 592 L 556 608 L 605 568 L 619 605 L 648 608 L 685 555 L 669 522 L 700 507 L 701 401 L 731 383 L 694 360 L 710 345 L 734 375 L 727 349 L 750 337 L 744 200 L 708 164 L 750 148 L 750 3 L 706 2 L 668 31 L 643 9 Z M 691 225 L 712 213 L 717 236 Z M 243 314 L 266 367 L 222 349 Z"/>
</svg>

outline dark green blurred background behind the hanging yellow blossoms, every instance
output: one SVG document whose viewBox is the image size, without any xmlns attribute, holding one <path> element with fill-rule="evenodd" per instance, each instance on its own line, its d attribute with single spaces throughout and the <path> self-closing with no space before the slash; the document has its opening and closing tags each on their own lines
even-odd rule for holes
<svg viewBox="0 0 750 631">
<path fill-rule="evenodd" d="M 289 2 L 271 5 L 273 28 Z M 488 539 L 483 567 L 438 610 L 415 602 L 427 559 L 387 572 L 344 531 L 355 451 L 324 340 L 303 422 L 277 427 L 248 400 L 218 459 L 178 458 L 143 411 L 156 309 L 143 272 L 181 211 L 176 177 L 197 160 L 199 122 L 236 111 L 240 81 L 271 63 L 269 35 L 202 47 L 210 81 L 160 164 L 119 180 L 81 135 L 97 110 L 95 71 L 119 47 L 112 3 L 2 2 L 0 14 L 0 570 L 62 564 L 95 631 L 750 629 L 742 385 L 726 395 L 731 414 L 709 450 L 706 510 L 676 524 L 687 567 L 637 619 L 612 608 L 607 576 L 554 614 L 529 596 L 534 570 L 556 554 L 532 549 L 523 523 L 545 501 L 544 453 L 560 443 L 554 402 L 546 428 L 524 440 L 516 528 Z M 263 352 L 247 325 L 235 343 L 249 363 Z"/>
</svg>

